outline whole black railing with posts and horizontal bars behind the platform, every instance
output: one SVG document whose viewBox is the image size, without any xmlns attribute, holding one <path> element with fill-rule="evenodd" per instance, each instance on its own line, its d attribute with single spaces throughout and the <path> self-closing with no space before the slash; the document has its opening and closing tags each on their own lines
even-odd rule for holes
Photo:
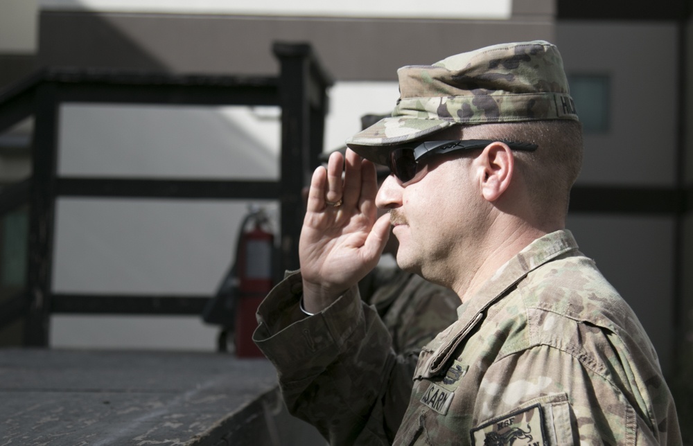
<svg viewBox="0 0 693 446">
<path fill-rule="evenodd" d="M 308 44 L 277 43 L 277 77 L 178 75 L 112 69 L 46 68 L 0 91 L 0 133 L 33 116 L 32 176 L 0 194 L 0 215 L 29 204 L 27 283 L 0 303 L 0 328 L 24 317 L 24 344 L 49 344 L 50 316 L 200 314 L 211 296 L 96 296 L 56 294 L 53 271 L 57 197 L 274 199 L 281 205 L 281 248 L 275 274 L 298 266 L 300 190 L 322 151 L 331 78 Z M 160 105 L 272 105 L 281 108 L 278 181 L 73 178 L 58 175 L 58 114 L 69 102 Z"/>
</svg>

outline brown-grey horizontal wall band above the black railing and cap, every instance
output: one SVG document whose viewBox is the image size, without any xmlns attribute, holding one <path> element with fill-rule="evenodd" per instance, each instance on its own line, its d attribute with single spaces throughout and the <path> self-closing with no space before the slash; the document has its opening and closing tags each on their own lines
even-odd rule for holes
<svg viewBox="0 0 693 446">
<path fill-rule="evenodd" d="M 553 39 L 552 1 L 512 5 L 509 20 L 132 14 L 44 8 L 40 63 L 274 74 L 277 62 L 270 53 L 272 42 L 286 40 L 310 42 L 336 80 L 394 80 L 396 69 L 405 64 L 432 63 L 487 44 Z"/>
</svg>

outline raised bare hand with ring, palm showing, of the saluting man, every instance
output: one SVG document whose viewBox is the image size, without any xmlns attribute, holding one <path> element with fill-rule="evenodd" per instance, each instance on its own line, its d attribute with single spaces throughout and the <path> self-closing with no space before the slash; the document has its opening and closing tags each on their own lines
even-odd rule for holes
<svg viewBox="0 0 693 446">
<path fill-rule="evenodd" d="M 299 240 L 306 311 L 324 309 L 378 263 L 389 217 L 377 218 L 377 192 L 375 166 L 351 150 L 313 172 Z"/>
</svg>

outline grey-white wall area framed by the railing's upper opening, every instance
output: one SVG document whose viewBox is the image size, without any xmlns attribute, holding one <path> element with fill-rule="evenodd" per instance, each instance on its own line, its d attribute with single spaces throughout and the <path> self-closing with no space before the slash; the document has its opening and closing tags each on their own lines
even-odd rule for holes
<svg viewBox="0 0 693 446">
<path fill-rule="evenodd" d="M 249 107 L 63 105 L 58 172 L 279 179 L 280 131 L 278 120 L 262 121 Z"/>
</svg>

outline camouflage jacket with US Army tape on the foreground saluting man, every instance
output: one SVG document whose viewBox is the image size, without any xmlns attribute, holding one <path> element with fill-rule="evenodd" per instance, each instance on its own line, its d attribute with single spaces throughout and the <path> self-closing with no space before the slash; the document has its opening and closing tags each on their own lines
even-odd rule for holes
<svg viewBox="0 0 693 446">
<path fill-rule="evenodd" d="M 647 334 L 568 231 L 509 260 L 423 349 L 394 438 L 402 377 L 379 318 L 352 290 L 301 319 L 300 284 L 267 297 L 256 341 L 333 445 L 681 444 Z"/>
</svg>

